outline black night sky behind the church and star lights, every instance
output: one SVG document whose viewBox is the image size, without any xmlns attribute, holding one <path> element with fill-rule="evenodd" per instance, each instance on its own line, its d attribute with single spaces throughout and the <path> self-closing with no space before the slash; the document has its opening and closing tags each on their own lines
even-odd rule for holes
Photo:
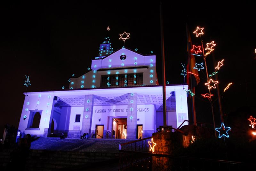
<svg viewBox="0 0 256 171">
<path fill-rule="evenodd" d="M 0 5 L 1 120 L 18 126 L 24 95 L 25 75 L 31 80 L 28 91 L 48 91 L 68 87 L 71 74 L 82 75 L 97 56 L 100 43 L 110 27 L 114 51 L 123 46 L 119 34 L 131 33 L 125 46 L 148 54 L 154 51 L 161 83 L 161 43 L 159 2 L 105 1 L 100 4 L 76 2 L 5 2 Z M 183 83 L 181 63 L 186 62 L 186 22 L 192 42 L 200 40 L 192 33 L 204 27 L 204 43 L 214 40 L 216 61 L 225 59 L 218 73 L 220 89 L 233 82 L 222 95 L 225 114 L 246 105 L 255 107 L 256 67 L 255 4 L 172 4 L 164 6 L 164 43 L 166 79 Z M 203 59 L 196 57 L 197 63 Z M 212 55 L 207 57 L 209 73 L 214 71 Z M 203 71 L 205 74 L 205 70 Z M 196 87 L 197 121 L 212 123 L 210 105 L 201 93 L 207 93 L 204 74 Z M 247 83 L 247 95 L 246 84 Z M 213 91 L 216 95 L 216 91 Z M 217 95 L 215 96 L 217 97 Z M 216 103 L 217 104 L 217 103 Z M 214 106 L 219 123 L 218 106 Z"/>
</svg>

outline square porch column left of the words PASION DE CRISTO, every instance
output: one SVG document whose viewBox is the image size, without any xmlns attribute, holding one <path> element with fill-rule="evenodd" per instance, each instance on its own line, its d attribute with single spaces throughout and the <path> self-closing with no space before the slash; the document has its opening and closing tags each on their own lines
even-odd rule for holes
<svg viewBox="0 0 256 171">
<path fill-rule="evenodd" d="M 85 95 L 81 134 L 83 135 L 84 132 L 89 133 L 89 138 L 91 137 L 93 102 L 94 95 Z"/>
</svg>

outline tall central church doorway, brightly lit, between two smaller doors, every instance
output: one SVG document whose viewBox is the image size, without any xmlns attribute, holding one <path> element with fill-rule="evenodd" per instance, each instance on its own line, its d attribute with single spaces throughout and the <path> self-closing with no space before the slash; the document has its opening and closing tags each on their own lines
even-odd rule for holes
<svg viewBox="0 0 256 171">
<path fill-rule="evenodd" d="M 113 118 L 112 138 L 126 139 L 127 118 Z"/>
</svg>

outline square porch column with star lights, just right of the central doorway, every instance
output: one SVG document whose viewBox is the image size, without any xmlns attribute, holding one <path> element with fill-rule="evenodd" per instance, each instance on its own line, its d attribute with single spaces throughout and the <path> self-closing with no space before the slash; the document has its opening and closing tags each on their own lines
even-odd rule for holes
<svg viewBox="0 0 256 171">
<path fill-rule="evenodd" d="M 137 129 L 137 93 L 128 94 L 127 139 L 136 139 Z"/>
</svg>

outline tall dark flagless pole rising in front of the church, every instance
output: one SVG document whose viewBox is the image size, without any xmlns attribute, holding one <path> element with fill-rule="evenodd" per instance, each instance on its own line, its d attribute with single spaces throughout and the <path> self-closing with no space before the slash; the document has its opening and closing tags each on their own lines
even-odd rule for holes
<svg viewBox="0 0 256 171">
<path fill-rule="evenodd" d="M 163 82 L 163 115 L 164 128 L 166 128 L 166 88 L 165 88 L 165 63 L 164 63 L 164 27 L 162 15 L 162 2 L 160 2 L 160 28 L 161 28 L 161 49 L 162 49 L 162 82 Z M 164 129 L 165 131 L 165 129 Z"/>
</svg>

